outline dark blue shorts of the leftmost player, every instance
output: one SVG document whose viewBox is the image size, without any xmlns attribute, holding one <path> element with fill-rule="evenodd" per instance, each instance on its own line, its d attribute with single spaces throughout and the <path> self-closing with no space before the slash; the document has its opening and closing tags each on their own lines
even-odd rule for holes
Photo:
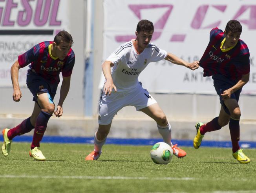
<svg viewBox="0 0 256 193">
<path fill-rule="evenodd" d="M 39 92 L 48 93 L 50 95 L 49 97 L 51 97 L 50 99 L 53 100 L 56 95 L 58 84 L 49 84 L 43 77 L 30 71 L 27 73 L 27 87 L 33 94 L 33 101 L 37 102 L 37 94 Z"/>
</svg>

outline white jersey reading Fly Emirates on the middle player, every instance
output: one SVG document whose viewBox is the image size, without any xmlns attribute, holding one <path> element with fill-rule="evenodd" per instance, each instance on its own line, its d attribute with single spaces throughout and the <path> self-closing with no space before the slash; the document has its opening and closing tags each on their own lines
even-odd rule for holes
<svg viewBox="0 0 256 193">
<path fill-rule="evenodd" d="M 114 64 L 111 68 L 113 83 L 117 92 L 135 88 L 138 85 L 138 76 L 150 62 L 157 62 L 166 58 L 167 52 L 154 44 L 148 44 L 141 54 L 137 54 L 132 40 L 120 46 L 106 61 Z"/>
</svg>

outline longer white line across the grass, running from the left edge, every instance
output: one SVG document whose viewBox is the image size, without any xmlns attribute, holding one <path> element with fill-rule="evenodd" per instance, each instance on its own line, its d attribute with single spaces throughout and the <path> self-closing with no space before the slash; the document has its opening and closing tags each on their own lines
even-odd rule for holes
<svg viewBox="0 0 256 193">
<path fill-rule="evenodd" d="M 194 180 L 195 178 L 173 177 L 125 177 L 125 176 L 39 176 L 39 175 L 0 175 L 0 178 L 55 178 L 55 179 L 100 179 L 100 180 Z"/>
</svg>

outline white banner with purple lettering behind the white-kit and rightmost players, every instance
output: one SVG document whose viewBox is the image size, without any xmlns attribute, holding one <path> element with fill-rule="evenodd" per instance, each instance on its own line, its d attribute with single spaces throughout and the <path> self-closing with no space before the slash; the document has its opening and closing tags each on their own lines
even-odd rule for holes
<svg viewBox="0 0 256 193">
<path fill-rule="evenodd" d="M 141 19 L 154 24 L 152 43 L 188 62 L 201 58 L 212 28 L 224 31 L 229 20 L 240 21 L 240 38 L 251 54 L 250 82 L 243 93 L 256 94 L 255 0 L 105 0 L 103 60 L 135 38 Z M 191 71 L 166 60 L 150 63 L 139 80 L 154 93 L 215 93 L 212 78 L 203 77 L 201 67 Z"/>
</svg>

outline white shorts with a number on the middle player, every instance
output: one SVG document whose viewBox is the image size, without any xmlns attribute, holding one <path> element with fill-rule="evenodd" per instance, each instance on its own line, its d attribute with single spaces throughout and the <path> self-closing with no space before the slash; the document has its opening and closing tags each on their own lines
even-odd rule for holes
<svg viewBox="0 0 256 193">
<path fill-rule="evenodd" d="M 117 112 L 125 106 L 134 106 L 139 111 L 155 103 L 156 100 L 142 87 L 141 82 L 134 89 L 120 93 L 113 91 L 110 96 L 102 92 L 98 122 L 100 125 L 110 124 Z"/>
</svg>

